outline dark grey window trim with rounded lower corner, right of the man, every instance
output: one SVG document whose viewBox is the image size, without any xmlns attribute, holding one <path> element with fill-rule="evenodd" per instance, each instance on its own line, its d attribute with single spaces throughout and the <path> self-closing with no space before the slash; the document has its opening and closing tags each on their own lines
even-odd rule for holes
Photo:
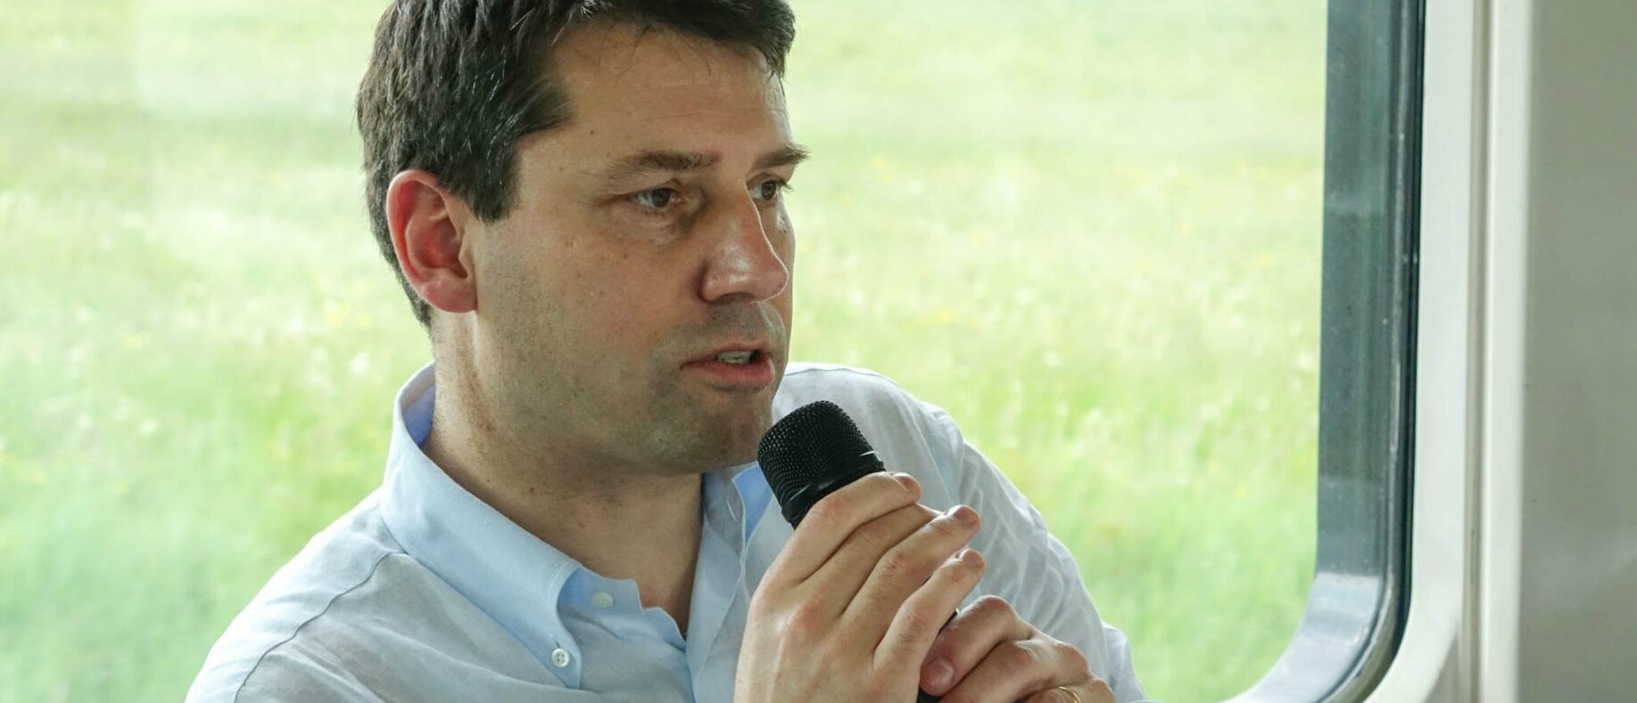
<svg viewBox="0 0 1637 703">
<path fill-rule="evenodd" d="M 1331 0 L 1318 554 L 1297 634 L 1242 701 L 1357 701 L 1403 636 L 1424 0 Z"/>
</svg>

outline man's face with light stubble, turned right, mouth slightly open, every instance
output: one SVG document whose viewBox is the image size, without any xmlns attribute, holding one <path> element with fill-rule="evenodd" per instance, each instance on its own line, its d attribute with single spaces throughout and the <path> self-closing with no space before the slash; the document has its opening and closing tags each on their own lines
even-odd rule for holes
<svg viewBox="0 0 1637 703">
<path fill-rule="evenodd" d="M 622 25 L 570 31 L 550 70 L 571 118 L 519 144 L 514 209 L 468 235 L 488 420 L 634 471 L 750 461 L 791 327 L 800 150 L 778 78 Z"/>
</svg>

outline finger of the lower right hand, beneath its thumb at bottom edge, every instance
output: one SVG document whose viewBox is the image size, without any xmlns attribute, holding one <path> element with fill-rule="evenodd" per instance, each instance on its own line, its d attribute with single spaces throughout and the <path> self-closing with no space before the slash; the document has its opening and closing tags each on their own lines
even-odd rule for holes
<svg viewBox="0 0 1637 703">
<path fill-rule="evenodd" d="M 945 700 L 1015 701 L 1053 687 L 1087 687 L 1095 678 L 1072 644 L 1046 636 L 1000 643 L 961 678 Z M 1084 703 L 1097 698 L 1082 696 Z"/>
</svg>

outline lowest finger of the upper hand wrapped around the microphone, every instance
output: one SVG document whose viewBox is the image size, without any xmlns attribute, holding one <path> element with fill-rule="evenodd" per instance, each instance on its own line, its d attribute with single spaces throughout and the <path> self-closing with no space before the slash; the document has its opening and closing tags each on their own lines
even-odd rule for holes
<svg viewBox="0 0 1637 703">
<path fill-rule="evenodd" d="M 876 647 L 876 667 L 913 672 L 927 657 L 938 628 L 949 621 L 949 613 L 961 607 L 982 574 L 984 557 L 976 549 L 961 549 L 938 566 L 931 579 L 892 615 L 892 625 Z"/>
</svg>

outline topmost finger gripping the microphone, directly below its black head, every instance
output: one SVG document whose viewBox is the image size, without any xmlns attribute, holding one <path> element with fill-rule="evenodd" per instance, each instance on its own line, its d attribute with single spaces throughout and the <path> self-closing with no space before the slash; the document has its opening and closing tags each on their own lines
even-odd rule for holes
<svg viewBox="0 0 1637 703">
<path fill-rule="evenodd" d="M 768 566 L 763 580 L 799 584 L 818 571 L 853 530 L 920 499 L 920 484 L 909 474 L 877 472 L 859 477 L 820 499 Z"/>
</svg>

